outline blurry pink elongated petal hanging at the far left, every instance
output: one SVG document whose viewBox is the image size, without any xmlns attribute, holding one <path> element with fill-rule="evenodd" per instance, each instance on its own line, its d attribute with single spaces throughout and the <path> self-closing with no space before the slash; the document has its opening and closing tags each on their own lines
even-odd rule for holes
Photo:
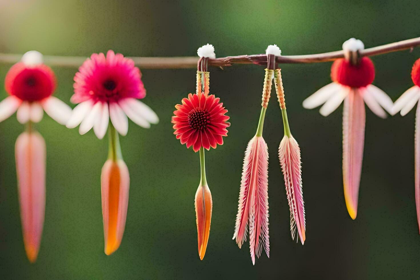
<svg viewBox="0 0 420 280">
<path fill-rule="evenodd" d="M 45 141 L 37 132 L 24 132 L 15 145 L 19 204 L 26 256 L 35 262 L 45 215 Z"/>
</svg>

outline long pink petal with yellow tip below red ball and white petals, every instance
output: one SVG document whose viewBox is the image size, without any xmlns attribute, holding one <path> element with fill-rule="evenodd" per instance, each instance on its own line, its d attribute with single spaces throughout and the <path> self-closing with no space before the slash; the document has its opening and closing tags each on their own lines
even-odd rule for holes
<svg viewBox="0 0 420 280">
<path fill-rule="evenodd" d="M 365 104 L 360 92 L 352 89 L 343 110 L 343 183 L 347 211 L 356 219 L 365 144 Z"/>
</svg>

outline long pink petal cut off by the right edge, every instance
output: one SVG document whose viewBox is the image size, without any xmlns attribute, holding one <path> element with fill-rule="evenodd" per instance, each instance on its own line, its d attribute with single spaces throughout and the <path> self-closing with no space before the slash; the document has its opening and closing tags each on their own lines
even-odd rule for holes
<svg viewBox="0 0 420 280">
<path fill-rule="evenodd" d="M 417 223 L 420 233 L 420 105 L 417 105 L 414 132 L 414 189 L 416 198 Z"/>
</svg>

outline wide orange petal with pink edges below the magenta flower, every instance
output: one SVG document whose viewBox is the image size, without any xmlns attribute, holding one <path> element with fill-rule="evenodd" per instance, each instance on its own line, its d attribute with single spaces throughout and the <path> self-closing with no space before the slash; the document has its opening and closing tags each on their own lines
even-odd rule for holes
<svg viewBox="0 0 420 280">
<path fill-rule="evenodd" d="M 123 239 L 129 202 L 130 175 L 123 160 L 107 160 L 102 167 L 101 194 L 105 254 L 115 252 Z"/>
</svg>

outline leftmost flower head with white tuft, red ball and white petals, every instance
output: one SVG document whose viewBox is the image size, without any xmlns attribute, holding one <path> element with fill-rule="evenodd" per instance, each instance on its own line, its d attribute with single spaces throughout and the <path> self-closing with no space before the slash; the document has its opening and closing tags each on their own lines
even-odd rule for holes
<svg viewBox="0 0 420 280">
<path fill-rule="evenodd" d="M 42 54 L 29 51 L 13 65 L 5 78 L 5 89 L 10 95 L 0 102 L 0 121 L 17 112 L 20 123 L 37 123 L 45 112 L 60 124 L 65 124 L 71 109 L 53 97 L 56 87 L 53 70 L 42 63 Z"/>
</svg>

